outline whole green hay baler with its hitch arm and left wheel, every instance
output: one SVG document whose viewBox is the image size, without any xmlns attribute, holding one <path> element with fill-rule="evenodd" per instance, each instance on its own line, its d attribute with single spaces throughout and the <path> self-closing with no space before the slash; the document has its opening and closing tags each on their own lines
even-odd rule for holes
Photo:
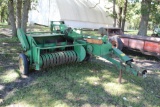
<svg viewBox="0 0 160 107">
<path fill-rule="evenodd" d="M 60 64 L 81 62 L 90 55 L 100 56 L 134 75 L 145 74 L 132 59 L 119 49 L 113 48 L 108 37 L 83 35 L 80 30 L 67 27 L 63 21 L 52 21 L 50 32 L 24 33 L 17 30 L 18 38 L 24 49 L 19 55 L 19 68 L 22 74 L 28 74 L 29 68 L 40 70 Z M 111 56 L 119 57 L 120 61 Z"/>
</svg>

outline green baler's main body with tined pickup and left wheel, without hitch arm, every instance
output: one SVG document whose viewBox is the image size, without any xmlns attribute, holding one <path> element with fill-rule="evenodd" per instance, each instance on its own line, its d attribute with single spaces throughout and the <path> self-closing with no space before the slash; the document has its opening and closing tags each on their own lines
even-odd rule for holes
<svg viewBox="0 0 160 107">
<path fill-rule="evenodd" d="M 66 39 L 65 34 L 51 32 L 30 32 L 24 34 L 22 29 L 17 31 L 25 53 L 19 56 L 20 71 L 28 74 L 32 66 L 35 70 L 50 66 L 81 62 L 86 57 L 83 44 Z"/>
</svg>

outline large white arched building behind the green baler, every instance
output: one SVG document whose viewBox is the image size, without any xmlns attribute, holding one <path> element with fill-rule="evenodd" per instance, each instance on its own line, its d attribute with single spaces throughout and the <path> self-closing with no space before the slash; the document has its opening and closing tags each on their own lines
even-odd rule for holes
<svg viewBox="0 0 160 107">
<path fill-rule="evenodd" d="M 36 9 L 29 12 L 29 23 L 48 26 L 50 21 L 64 21 L 68 26 L 75 28 L 112 26 L 113 19 L 107 15 L 98 1 L 38 0 Z"/>
</svg>

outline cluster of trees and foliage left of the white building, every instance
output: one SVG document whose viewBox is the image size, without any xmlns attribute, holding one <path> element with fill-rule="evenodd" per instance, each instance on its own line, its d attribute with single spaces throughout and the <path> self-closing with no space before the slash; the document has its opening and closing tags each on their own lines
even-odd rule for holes
<svg viewBox="0 0 160 107">
<path fill-rule="evenodd" d="M 28 12 L 33 0 L 0 0 L 1 22 L 5 21 L 11 25 L 12 36 L 17 35 L 17 28 L 26 32 Z"/>
</svg>

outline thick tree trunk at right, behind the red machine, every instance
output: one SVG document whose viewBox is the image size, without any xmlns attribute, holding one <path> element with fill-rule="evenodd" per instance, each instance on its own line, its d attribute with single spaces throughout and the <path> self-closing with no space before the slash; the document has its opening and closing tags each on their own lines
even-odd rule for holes
<svg viewBox="0 0 160 107">
<path fill-rule="evenodd" d="M 142 0 L 141 2 L 141 21 L 139 24 L 138 35 L 146 36 L 147 35 L 147 26 L 149 20 L 149 13 L 151 9 L 152 0 Z"/>
</svg>

